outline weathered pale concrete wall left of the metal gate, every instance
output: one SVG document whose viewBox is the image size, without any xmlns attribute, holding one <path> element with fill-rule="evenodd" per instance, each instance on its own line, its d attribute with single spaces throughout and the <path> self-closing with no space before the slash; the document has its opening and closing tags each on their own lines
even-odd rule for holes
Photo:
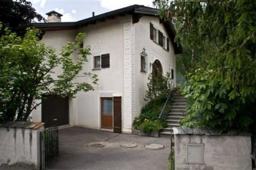
<svg viewBox="0 0 256 170">
<path fill-rule="evenodd" d="M 40 131 L 44 127 L 0 127 L 0 165 L 28 165 L 40 169 Z"/>
</svg>

